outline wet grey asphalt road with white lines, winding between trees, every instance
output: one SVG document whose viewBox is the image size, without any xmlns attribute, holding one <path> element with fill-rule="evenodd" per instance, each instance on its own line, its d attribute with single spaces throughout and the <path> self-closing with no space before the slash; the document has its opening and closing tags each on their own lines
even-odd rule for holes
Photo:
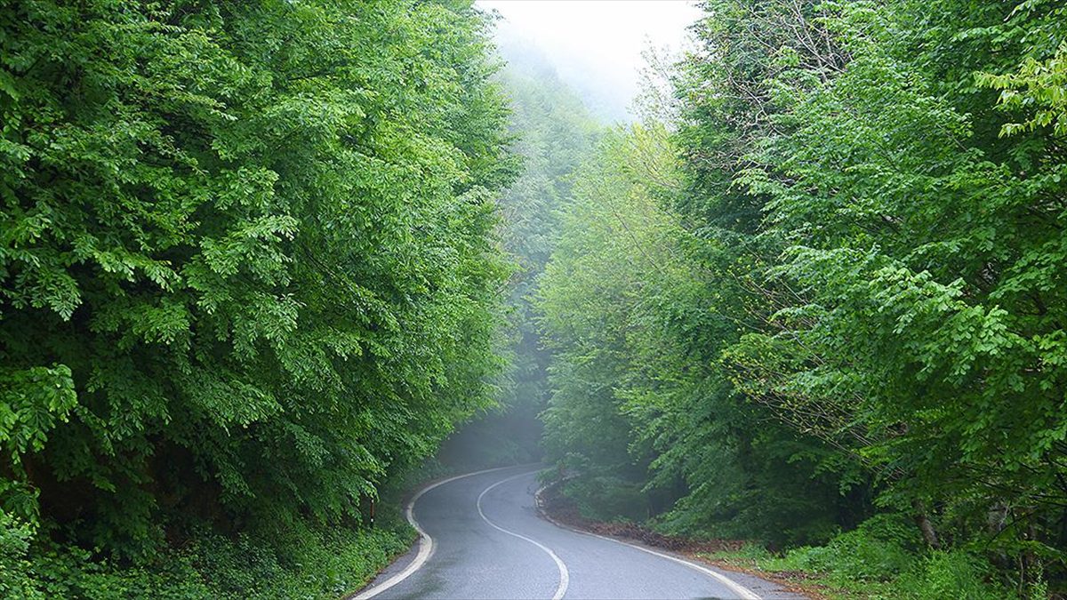
<svg viewBox="0 0 1067 600">
<path fill-rule="evenodd" d="M 360 597 L 796 598 L 750 575 L 715 570 L 730 585 L 667 556 L 556 526 L 538 516 L 537 488 L 534 468 L 519 467 L 427 491 L 416 500 L 414 517 L 434 539 L 429 559 L 375 594 L 383 582 L 410 569 L 410 553 Z"/>
</svg>

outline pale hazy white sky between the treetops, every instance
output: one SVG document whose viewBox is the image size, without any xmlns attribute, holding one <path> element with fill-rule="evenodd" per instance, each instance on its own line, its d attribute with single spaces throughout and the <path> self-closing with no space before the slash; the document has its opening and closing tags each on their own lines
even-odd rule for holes
<svg viewBox="0 0 1067 600">
<path fill-rule="evenodd" d="M 504 17 L 497 36 L 536 45 L 559 76 L 608 120 L 626 119 L 638 89 L 641 51 L 678 51 L 700 17 L 686 0 L 478 0 Z M 504 42 L 504 40 L 501 40 Z M 507 58 L 507 44 L 501 43 Z"/>
</svg>

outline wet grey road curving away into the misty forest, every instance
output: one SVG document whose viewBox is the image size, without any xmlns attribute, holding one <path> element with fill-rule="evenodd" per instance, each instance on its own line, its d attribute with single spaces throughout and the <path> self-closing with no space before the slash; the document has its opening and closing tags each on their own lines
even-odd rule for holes
<svg viewBox="0 0 1067 600">
<path fill-rule="evenodd" d="M 529 465 L 527 465 L 528 468 Z M 377 585 L 371 584 L 367 589 L 349 598 L 369 600 L 391 588 L 393 589 L 384 597 L 545 598 L 547 597 L 546 593 L 552 589 L 552 584 L 558 581 L 555 594 L 552 596 L 553 600 L 561 600 L 567 594 L 575 598 L 603 598 L 607 594 L 612 597 L 617 595 L 619 598 L 714 596 L 760 600 L 760 596 L 727 574 L 716 572 L 714 569 L 686 560 L 683 557 L 574 530 L 555 522 L 551 517 L 546 519 L 547 516 L 543 514 L 541 518 L 538 518 L 537 494 L 532 491 L 536 489 L 532 476 L 537 470 L 524 470 L 515 473 L 517 469 L 523 469 L 523 465 L 466 473 L 421 488 L 413 495 L 404 510 L 408 521 L 419 533 L 414 559 L 405 567 L 399 565 L 395 567 L 402 568 L 396 574 L 389 575 L 386 571 L 380 580 L 387 579 Z M 480 479 L 474 478 L 476 475 L 506 470 L 510 470 L 510 473 L 488 475 Z M 523 477 L 530 480 L 520 479 Z M 416 502 L 420 499 L 426 500 L 423 496 L 427 492 L 461 479 L 462 483 L 434 492 L 432 494 L 433 502 L 429 505 L 427 505 L 429 501 L 419 505 L 420 517 L 426 522 L 424 527 L 415 519 Z M 520 488 L 516 487 L 519 486 L 516 480 L 522 481 L 525 492 L 520 491 Z M 516 483 L 506 486 L 511 481 Z M 471 508 L 475 508 L 475 510 L 469 510 Z M 423 514 L 423 511 L 428 512 Z M 478 515 L 477 519 L 474 518 L 475 512 Z M 427 521 L 427 519 L 430 520 Z M 491 541 L 492 536 L 487 538 L 484 533 L 477 533 L 481 528 L 476 525 L 479 521 L 508 537 L 520 539 L 524 543 L 538 548 L 543 554 L 541 557 L 538 557 L 537 553 L 530 555 L 530 550 L 521 550 L 524 544 L 501 546 L 503 539 L 506 538 L 496 538 L 496 541 Z M 435 540 L 427 530 L 432 531 L 434 536 L 444 537 Z M 582 541 L 583 538 L 588 541 Z M 462 543 L 457 546 L 457 540 L 462 540 Z M 605 544 L 605 541 L 611 543 Z M 554 547 L 555 550 L 547 544 Z M 610 550 L 612 546 L 618 550 Z M 620 547 L 626 547 L 630 550 Z M 528 549 L 528 547 L 526 548 Z M 488 554 L 487 550 L 489 550 Z M 634 550 L 639 552 L 635 553 Z M 636 556 L 639 554 L 666 558 L 668 562 L 674 563 L 675 566 L 669 567 L 668 564 L 664 563 L 659 563 L 657 566 L 655 559 L 651 562 L 648 558 L 639 559 Z M 542 563 L 544 555 L 547 555 L 555 563 L 557 573 L 550 574 L 552 572 L 548 570 L 551 563 Z M 458 558 L 460 563 L 456 562 Z M 567 563 L 564 563 L 564 558 Z M 471 565 L 457 569 L 459 565 L 463 564 L 462 560 L 471 559 L 474 560 Z M 527 570 L 526 565 L 534 563 L 543 564 L 541 569 L 544 567 L 548 567 L 548 569 L 539 569 L 536 573 Z M 571 564 L 570 568 L 568 563 Z M 619 570 L 619 565 L 630 566 Z M 605 571 L 606 567 L 610 568 Z M 679 567 L 687 567 L 688 569 L 680 569 Z M 493 570 L 496 571 L 496 579 L 493 577 L 487 579 L 485 574 Z M 689 574 L 686 574 L 686 571 Z M 417 577 L 412 578 L 416 572 Z M 507 578 L 508 574 L 512 573 L 517 575 L 520 572 L 523 573 L 522 577 L 512 580 L 514 585 L 500 585 L 501 582 L 509 581 L 509 579 L 500 578 Z M 615 574 L 611 574 L 612 572 Z M 558 580 L 553 577 L 554 574 L 558 574 Z M 576 579 L 572 579 L 572 575 Z M 715 582 L 714 585 L 708 580 Z M 700 583 L 700 581 L 706 583 Z M 398 585 L 401 583 L 403 585 Z M 536 591 L 538 588 L 542 590 L 540 594 Z"/>
</svg>

